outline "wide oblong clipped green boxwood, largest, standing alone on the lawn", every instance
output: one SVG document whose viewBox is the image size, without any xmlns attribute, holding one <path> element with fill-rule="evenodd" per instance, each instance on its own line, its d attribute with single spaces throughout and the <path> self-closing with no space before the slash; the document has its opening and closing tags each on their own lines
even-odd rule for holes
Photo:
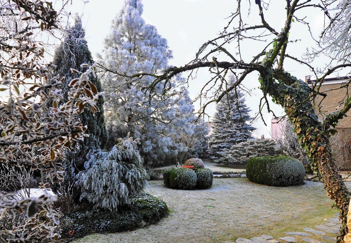
<svg viewBox="0 0 351 243">
<path fill-rule="evenodd" d="M 303 183 L 305 167 L 287 156 L 253 157 L 247 162 L 246 176 L 256 183 L 286 187 Z"/>
</svg>

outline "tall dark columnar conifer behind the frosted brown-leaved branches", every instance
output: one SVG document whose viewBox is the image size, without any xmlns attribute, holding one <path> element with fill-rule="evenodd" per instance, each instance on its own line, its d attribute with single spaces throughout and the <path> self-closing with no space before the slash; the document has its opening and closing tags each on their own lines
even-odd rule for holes
<svg viewBox="0 0 351 243">
<path fill-rule="evenodd" d="M 92 55 L 85 40 L 85 31 L 82 27 L 81 19 L 75 18 L 74 25 L 68 29 L 64 42 L 62 42 L 55 50 L 53 63 L 54 75 L 65 77 L 60 88 L 61 99 L 58 105 L 67 102 L 69 83 L 78 77 L 78 73 L 71 72 L 71 68 L 81 71 L 82 63 L 93 63 Z M 98 92 L 101 92 L 101 83 L 97 77 L 90 76 L 90 82 L 96 87 Z M 87 84 L 89 85 L 89 84 Z M 46 104 L 48 107 L 53 106 L 53 101 L 49 100 Z M 84 106 L 84 104 L 81 104 Z M 104 148 L 108 139 L 107 129 L 104 121 L 104 99 L 102 96 L 97 100 L 99 112 L 92 113 L 92 107 L 89 104 L 85 105 L 84 112 L 79 115 L 80 122 L 86 126 L 86 135 L 83 140 L 78 141 L 75 149 L 67 150 L 65 159 L 62 161 L 65 170 L 65 180 L 61 183 L 60 188 L 57 184 L 53 185 L 53 189 L 65 193 L 72 190 L 75 171 L 84 169 L 86 156 L 91 149 Z"/>
</svg>

